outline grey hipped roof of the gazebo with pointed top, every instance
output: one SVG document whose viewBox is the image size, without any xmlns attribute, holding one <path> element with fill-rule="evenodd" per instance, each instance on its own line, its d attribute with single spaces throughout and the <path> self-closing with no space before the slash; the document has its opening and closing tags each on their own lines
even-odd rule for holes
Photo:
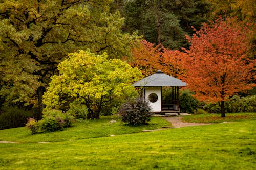
<svg viewBox="0 0 256 170">
<path fill-rule="evenodd" d="M 135 87 L 156 87 L 156 86 L 186 86 L 185 82 L 158 70 L 155 74 L 148 76 L 133 84 Z"/>
</svg>

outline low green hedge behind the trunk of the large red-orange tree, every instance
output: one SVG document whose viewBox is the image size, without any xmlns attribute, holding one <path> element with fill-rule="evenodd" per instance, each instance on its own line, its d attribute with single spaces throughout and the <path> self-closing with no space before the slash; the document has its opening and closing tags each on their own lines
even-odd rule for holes
<svg viewBox="0 0 256 170">
<path fill-rule="evenodd" d="M 239 112 L 255 112 L 256 111 L 256 96 L 240 97 L 234 95 L 225 104 L 225 110 L 229 113 Z M 210 113 L 220 113 L 221 108 L 218 103 L 208 103 L 204 106 L 204 109 Z"/>
</svg>

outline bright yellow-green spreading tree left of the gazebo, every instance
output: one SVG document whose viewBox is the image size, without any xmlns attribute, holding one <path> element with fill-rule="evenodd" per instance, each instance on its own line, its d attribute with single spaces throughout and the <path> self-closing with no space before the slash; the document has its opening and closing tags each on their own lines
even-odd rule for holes
<svg viewBox="0 0 256 170">
<path fill-rule="evenodd" d="M 66 112 L 71 105 L 85 105 L 89 119 L 99 118 L 101 110 L 111 103 L 118 106 L 136 96 L 131 83 L 142 76 L 126 62 L 90 51 L 70 53 L 69 58 L 58 65 L 58 71 L 44 94 L 44 111 Z"/>
</svg>

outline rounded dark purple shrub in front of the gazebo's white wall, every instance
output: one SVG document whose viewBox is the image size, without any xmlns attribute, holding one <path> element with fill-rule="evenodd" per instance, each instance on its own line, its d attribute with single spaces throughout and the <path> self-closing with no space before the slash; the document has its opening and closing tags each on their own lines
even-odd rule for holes
<svg viewBox="0 0 256 170">
<path fill-rule="evenodd" d="M 148 101 L 140 97 L 123 103 L 118 114 L 122 121 L 129 125 L 146 124 L 152 117 Z"/>
</svg>

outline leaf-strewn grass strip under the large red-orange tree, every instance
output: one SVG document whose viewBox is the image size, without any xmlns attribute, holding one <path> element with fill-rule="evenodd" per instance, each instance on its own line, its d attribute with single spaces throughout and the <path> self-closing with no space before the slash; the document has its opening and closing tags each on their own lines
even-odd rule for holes
<svg viewBox="0 0 256 170">
<path fill-rule="evenodd" d="M 183 117 L 182 121 L 193 123 L 222 123 L 256 120 L 256 113 L 226 113 L 225 115 L 226 117 L 221 117 L 221 114 L 198 114 Z"/>
</svg>

